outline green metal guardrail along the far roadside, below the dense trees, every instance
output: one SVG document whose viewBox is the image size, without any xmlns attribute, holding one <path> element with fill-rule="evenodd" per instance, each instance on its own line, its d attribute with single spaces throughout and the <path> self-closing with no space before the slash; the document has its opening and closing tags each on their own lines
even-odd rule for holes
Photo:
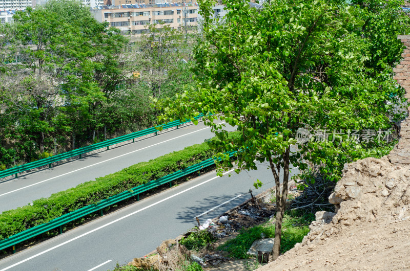
<svg viewBox="0 0 410 271">
<path fill-rule="evenodd" d="M 197 117 L 195 117 L 194 119 L 198 120 L 202 117 L 203 117 L 203 115 L 200 114 Z M 191 122 L 191 120 L 188 120 L 188 121 L 185 121 L 185 122 L 181 122 L 180 120 L 176 120 L 176 121 L 169 122 L 167 124 L 162 124 L 162 125 L 159 125 L 159 126 L 156 126 L 156 127 L 161 127 L 162 126 L 162 129 L 167 129 L 167 128 L 171 128 L 171 127 L 176 126 L 178 128 L 179 125 L 184 124 L 184 123 L 188 123 L 188 122 Z M 121 137 L 118 137 L 118 138 L 115 138 L 115 139 L 106 140 L 106 141 L 99 142 L 99 143 L 96 143 L 96 144 L 93 144 L 93 145 L 90 145 L 90 146 L 87 146 L 87 147 L 82 147 L 82 148 L 78 148 L 78 149 L 75 149 L 75 150 L 72 150 L 72 151 L 60 153 L 60 154 L 57 154 L 57 155 L 54 155 L 54 156 L 51 156 L 51 157 L 48 157 L 48 158 L 45 158 L 45 159 L 42 159 L 42 160 L 37 160 L 37 161 L 27 163 L 27 164 L 24 164 L 24 165 L 21 165 L 21 166 L 16 166 L 16 167 L 13 167 L 13 168 L 2 170 L 2 171 L 0 171 L 0 178 L 7 177 L 7 176 L 10 176 L 10 175 L 13 175 L 13 174 L 15 174 L 15 177 L 17 178 L 17 173 L 20 173 L 20 172 L 23 172 L 23 171 L 26 171 L 26 170 L 29 170 L 29 169 L 38 168 L 38 167 L 47 166 L 47 165 L 49 165 L 49 167 L 51 168 L 52 163 L 55 163 L 55 162 L 58 162 L 58 161 L 61 161 L 61 160 L 64 160 L 64 159 L 68 159 L 68 158 L 73 157 L 73 156 L 79 155 L 79 158 L 81 159 L 81 154 L 83 154 L 83 153 L 87 153 L 87 152 L 97 150 L 97 149 L 101 149 L 101 148 L 105 148 L 105 147 L 107 147 L 107 150 L 108 150 L 111 145 L 121 143 L 121 142 L 124 142 L 124 141 L 128 141 L 128 140 L 131 140 L 131 139 L 132 139 L 132 142 L 134 142 L 134 139 L 136 139 L 138 137 L 142 137 L 143 135 L 147 135 L 147 134 L 150 134 L 150 133 L 155 133 L 155 135 L 157 135 L 158 130 L 156 129 L 156 127 L 151 127 L 151 128 L 145 129 L 145 130 L 138 131 L 138 132 L 133 132 L 133 133 L 130 133 L 130 134 L 122 135 Z"/>
</svg>

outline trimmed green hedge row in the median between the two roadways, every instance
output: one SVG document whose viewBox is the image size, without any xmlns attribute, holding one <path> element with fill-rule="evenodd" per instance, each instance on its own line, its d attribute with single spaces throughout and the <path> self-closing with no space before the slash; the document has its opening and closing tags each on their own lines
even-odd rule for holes
<svg viewBox="0 0 410 271">
<path fill-rule="evenodd" d="M 207 143 L 193 145 L 52 194 L 48 198 L 34 200 L 32 206 L 5 211 L 0 214 L 0 240 L 151 180 L 185 169 L 211 156 L 212 151 Z"/>
</svg>

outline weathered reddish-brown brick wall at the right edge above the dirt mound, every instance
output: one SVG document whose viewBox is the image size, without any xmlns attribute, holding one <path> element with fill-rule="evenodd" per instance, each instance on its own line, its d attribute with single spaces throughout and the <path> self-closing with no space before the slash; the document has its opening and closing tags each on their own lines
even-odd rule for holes
<svg viewBox="0 0 410 271">
<path fill-rule="evenodd" d="M 407 47 L 401 55 L 403 60 L 393 69 L 397 80 L 406 91 L 404 98 L 410 99 L 410 35 L 400 35 L 397 37 Z M 410 107 L 407 108 L 407 112 Z M 410 119 L 407 117 L 400 124 L 400 140 L 395 148 L 388 154 L 391 163 L 410 164 Z"/>
</svg>

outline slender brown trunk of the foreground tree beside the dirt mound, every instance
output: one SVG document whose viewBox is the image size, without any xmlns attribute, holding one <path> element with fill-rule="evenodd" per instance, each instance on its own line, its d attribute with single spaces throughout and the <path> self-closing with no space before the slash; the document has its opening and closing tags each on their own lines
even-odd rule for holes
<svg viewBox="0 0 410 271">
<path fill-rule="evenodd" d="M 286 149 L 283 154 L 283 184 L 282 193 L 280 193 L 280 185 L 276 185 L 276 224 L 275 224 L 275 241 L 273 243 L 272 258 L 276 260 L 280 254 L 280 242 L 282 240 L 282 219 L 286 210 L 286 198 L 288 197 L 289 183 L 289 153 L 290 149 Z M 278 193 L 279 192 L 279 193 Z M 279 195 L 279 196 L 278 196 Z"/>
</svg>

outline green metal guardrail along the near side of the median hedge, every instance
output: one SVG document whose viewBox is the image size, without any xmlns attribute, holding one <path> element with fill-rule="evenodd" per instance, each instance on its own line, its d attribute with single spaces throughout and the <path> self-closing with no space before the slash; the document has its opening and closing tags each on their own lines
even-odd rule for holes
<svg viewBox="0 0 410 271">
<path fill-rule="evenodd" d="M 236 153 L 236 151 L 232 151 L 229 153 L 229 156 L 232 157 L 234 154 Z M 146 192 L 148 190 L 151 190 L 153 188 L 156 188 L 160 185 L 164 185 L 167 183 L 170 183 L 170 187 L 172 186 L 172 181 L 176 180 L 180 177 L 189 175 L 193 172 L 197 172 L 202 168 L 206 168 L 209 167 L 211 165 L 215 164 L 215 161 L 210 158 L 207 159 L 205 161 L 202 161 L 199 164 L 190 166 L 186 169 L 183 170 L 178 170 L 170 175 L 161 177 L 159 179 L 156 180 L 152 180 L 151 182 L 148 182 L 147 184 L 144 185 L 140 185 L 137 187 L 132 188 L 131 190 L 127 190 L 124 191 L 122 193 L 119 193 L 118 195 L 115 196 L 111 196 L 107 199 L 103 199 L 99 202 L 97 202 L 96 204 L 93 205 L 89 205 L 83 208 L 80 208 L 76 211 L 70 212 L 68 214 L 62 215 L 60 217 L 57 217 L 53 220 L 50 220 L 47 223 L 41 224 L 41 225 L 37 225 L 33 228 L 30 228 L 28 230 L 25 230 L 23 232 L 17 233 L 13 236 L 10 236 L 7 239 L 4 239 L 2 241 L 0 241 L 0 251 L 7 249 L 7 247 L 13 247 L 13 253 L 15 252 L 15 245 L 26 241 L 30 238 L 33 238 L 37 235 L 43 234 L 45 232 L 48 232 L 50 230 L 54 230 L 58 228 L 58 232 L 61 234 L 63 233 L 63 229 L 61 228 L 61 226 L 63 226 L 64 224 L 67 224 L 71 221 L 74 221 L 78 218 L 81 218 L 83 216 L 89 215 L 91 213 L 94 212 L 98 212 L 100 211 L 100 214 L 103 215 L 103 209 L 106 207 L 109 207 L 113 204 L 116 204 L 117 202 L 130 198 L 132 196 L 137 196 L 137 200 L 139 200 L 139 194 L 142 192 Z"/>
</svg>

